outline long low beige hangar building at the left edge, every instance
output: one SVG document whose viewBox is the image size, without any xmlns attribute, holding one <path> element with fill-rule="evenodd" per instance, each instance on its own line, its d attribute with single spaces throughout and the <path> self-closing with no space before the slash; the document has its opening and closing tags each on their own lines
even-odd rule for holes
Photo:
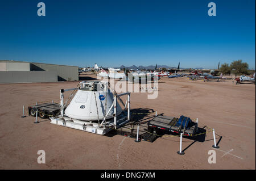
<svg viewBox="0 0 256 181">
<path fill-rule="evenodd" d="M 0 83 L 79 81 L 79 67 L 0 60 Z"/>
</svg>

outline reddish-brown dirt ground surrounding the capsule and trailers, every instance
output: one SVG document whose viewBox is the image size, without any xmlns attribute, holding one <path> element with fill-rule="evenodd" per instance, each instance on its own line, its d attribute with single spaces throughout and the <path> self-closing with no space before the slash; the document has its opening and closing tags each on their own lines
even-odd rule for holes
<svg viewBox="0 0 256 181">
<path fill-rule="evenodd" d="M 137 143 L 61 127 L 48 119 L 34 124 L 27 110 L 27 117 L 20 117 L 23 104 L 59 102 L 59 90 L 77 83 L 0 85 L 0 169 L 255 169 L 255 85 L 162 78 L 157 99 L 147 99 L 148 92 L 132 93 L 132 109 L 198 118 L 200 128 L 215 129 L 220 149 L 212 148 L 209 132 L 203 142 L 183 137 L 185 154 L 178 155 L 179 137 Z M 46 151 L 45 164 L 37 162 L 38 150 Z M 208 163 L 209 150 L 216 151 L 216 163 Z"/>
</svg>

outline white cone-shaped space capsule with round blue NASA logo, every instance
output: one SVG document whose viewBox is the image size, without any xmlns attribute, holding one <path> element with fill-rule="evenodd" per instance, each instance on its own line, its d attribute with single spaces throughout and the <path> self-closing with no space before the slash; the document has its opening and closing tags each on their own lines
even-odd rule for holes
<svg viewBox="0 0 256 181">
<path fill-rule="evenodd" d="M 65 109 L 65 115 L 82 121 L 103 120 L 114 102 L 114 95 L 108 88 L 108 82 L 83 81 L 80 85 L 80 89 Z M 117 102 L 117 116 L 121 112 L 122 109 Z M 106 119 L 112 118 L 113 113 L 114 106 Z"/>
</svg>

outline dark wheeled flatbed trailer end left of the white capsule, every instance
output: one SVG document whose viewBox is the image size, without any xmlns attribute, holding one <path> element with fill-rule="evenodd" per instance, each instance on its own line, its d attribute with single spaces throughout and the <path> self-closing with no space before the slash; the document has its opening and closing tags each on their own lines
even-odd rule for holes
<svg viewBox="0 0 256 181">
<path fill-rule="evenodd" d="M 46 119 L 51 116 L 55 117 L 60 113 L 60 104 L 51 102 L 28 106 L 28 115 L 35 117 L 36 110 L 38 110 L 38 116 L 42 119 Z"/>
</svg>

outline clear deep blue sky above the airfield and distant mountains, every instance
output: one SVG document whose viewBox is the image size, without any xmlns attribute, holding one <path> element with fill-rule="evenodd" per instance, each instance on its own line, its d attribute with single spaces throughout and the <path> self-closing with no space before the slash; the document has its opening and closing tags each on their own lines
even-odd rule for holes
<svg viewBox="0 0 256 181">
<path fill-rule="evenodd" d="M 0 60 L 213 69 L 239 59 L 255 69 L 254 0 L 0 2 Z"/>
</svg>

